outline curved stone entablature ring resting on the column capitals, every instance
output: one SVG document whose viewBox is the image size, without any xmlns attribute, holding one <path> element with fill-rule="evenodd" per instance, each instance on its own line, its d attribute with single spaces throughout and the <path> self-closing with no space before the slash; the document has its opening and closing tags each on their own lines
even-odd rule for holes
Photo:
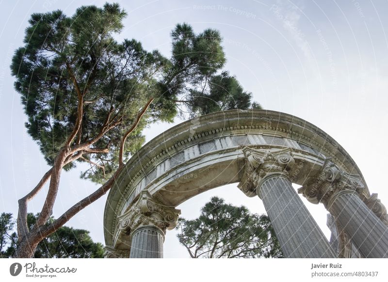
<svg viewBox="0 0 388 282">
<path fill-rule="evenodd" d="M 247 148 L 290 150 L 295 165 L 288 173 L 300 185 L 315 179 L 330 159 L 340 170 L 359 175 L 365 199 L 371 196 L 353 159 L 317 126 L 276 111 L 217 112 L 172 127 L 128 161 L 105 206 L 106 245 L 117 247 L 123 241 L 120 220 L 142 191 L 159 204 L 176 207 L 208 189 L 242 181 Z"/>
</svg>

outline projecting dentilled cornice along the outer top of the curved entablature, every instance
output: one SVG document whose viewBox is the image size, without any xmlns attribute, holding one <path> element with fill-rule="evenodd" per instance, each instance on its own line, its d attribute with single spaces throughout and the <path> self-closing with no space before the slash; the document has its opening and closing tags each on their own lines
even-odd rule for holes
<svg viewBox="0 0 388 282">
<path fill-rule="evenodd" d="M 252 111 L 252 112 L 251 112 Z M 321 138 L 324 138 L 323 141 L 326 143 L 326 145 L 329 144 L 336 144 L 335 147 L 338 147 L 336 151 L 342 151 L 343 149 L 337 144 L 337 142 L 334 141 L 331 137 L 329 137 L 326 133 L 324 133 L 322 130 L 320 130 L 318 127 L 315 125 L 311 125 L 306 121 L 303 121 L 299 118 L 296 118 L 295 116 L 291 116 L 285 113 L 280 113 L 280 112 L 275 112 L 275 111 L 265 111 L 266 114 L 268 113 L 276 113 L 275 116 L 265 116 L 265 117 L 258 117 L 259 119 L 262 118 L 264 121 L 274 121 L 274 124 L 277 126 L 269 126 L 267 124 L 264 125 L 253 125 L 253 124 L 248 124 L 245 125 L 244 118 L 246 118 L 246 113 L 251 113 L 248 116 L 251 118 L 256 118 L 253 113 L 256 111 L 263 111 L 263 110 L 229 110 L 229 111 L 224 111 L 220 113 L 214 113 L 214 114 L 209 114 L 209 115 L 204 115 L 199 117 L 200 123 L 196 125 L 196 134 L 194 135 L 188 135 L 188 132 L 185 130 L 190 130 L 192 123 L 191 121 L 184 122 L 182 124 L 176 125 L 172 127 L 171 129 L 167 130 L 166 132 L 160 134 L 153 140 L 149 141 L 146 143 L 139 152 L 136 153 L 135 156 L 133 156 L 128 163 L 126 164 L 126 168 L 123 170 L 123 172 L 118 176 L 116 183 L 120 185 L 124 181 L 124 178 L 127 177 L 130 179 L 128 183 L 125 184 L 126 188 L 129 188 L 132 184 L 136 182 L 136 180 L 140 176 L 144 176 L 147 171 L 149 171 L 149 168 L 155 168 L 155 163 L 158 162 L 158 159 L 163 159 L 163 157 L 171 157 L 175 155 L 177 149 L 182 146 L 187 146 L 189 143 L 195 143 L 200 139 L 206 139 L 206 137 L 217 134 L 217 133 L 225 133 L 225 134 L 230 134 L 230 132 L 236 133 L 238 130 L 242 130 L 243 132 L 246 132 L 248 129 L 249 131 L 255 131 L 255 130 L 264 130 L 264 131 L 275 131 L 275 132 L 284 132 L 287 133 L 288 135 L 294 136 L 296 140 L 298 141 L 305 141 L 308 144 L 311 145 L 317 145 L 320 147 L 320 142 L 316 141 L 316 137 L 318 134 L 312 134 L 311 133 L 311 138 L 309 138 L 307 135 L 308 130 L 316 130 L 319 131 L 319 133 L 323 133 L 323 136 Z M 217 119 L 217 116 L 222 116 L 225 120 L 222 125 L 224 127 L 215 127 L 210 130 L 204 130 L 204 128 L 201 127 L 201 125 L 208 125 L 208 123 L 212 121 L 219 121 Z M 288 117 L 288 119 L 285 119 L 286 122 L 292 122 L 292 124 L 287 124 L 287 128 L 282 128 L 281 124 L 279 121 L 281 120 L 281 117 Z M 230 118 L 231 120 L 228 120 Z M 233 121 L 233 118 L 238 118 L 237 121 Z M 225 125 L 230 125 L 230 126 L 225 126 Z M 303 129 L 301 130 L 304 134 L 298 133 L 297 130 L 294 130 L 295 128 L 292 128 L 292 125 L 301 125 L 303 126 Z M 309 126 L 311 125 L 311 127 Z M 206 127 L 206 126 L 205 126 Z M 184 139 L 187 136 L 186 139 Z M 174 137 L 179 136 L 179 139 L 177 141 L 172 141 L 175 140 Z M 330 142 L 332 141 L 332 142 Z M 162 146 L 161 146 L 162 144 Z M 170 145 L 170 146 L 168 146 Z M 160 148 L 160 151 L 158 151 L 158 148 Z M 328 150 L 325 147 L 320 147 L 320 149 L 330 157 L 330 154 L 332 153 L 333 150 Z M 344 151 L 344 150 L 343 150 Z M 331 156 L 333 160 L 335 161 L 341 161 L 340 159 L 337 159 L 335 156 Z M 349 157 L 348 157 L 349 158 Z M 145 162 L 143 162 L 143 161 Z M 136 169 L 135 164 L 139 165 L 139 169 Z M 130 168 L 130 169 L 129 169 Z M 352 168 L 358 168 L 356 167 L 356 164 L 352 164 Z M 122 187 L 122 186 L 121 186 Z M 113 191 L 114 188 L 111 190 Z M 128 190 L 125 189 L 127 192 Z M 109 193 L 108 197 L 111 197 L 111 193 Z M 108 199 L 109 200 L 109 199 Z"/>
</svg>

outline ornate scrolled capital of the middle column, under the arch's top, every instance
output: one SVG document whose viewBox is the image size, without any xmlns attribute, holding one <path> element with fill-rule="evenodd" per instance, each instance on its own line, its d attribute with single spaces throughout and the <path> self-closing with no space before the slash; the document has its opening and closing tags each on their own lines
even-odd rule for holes
<svg viewBox="0 0 388 282">
<path fill-rule="evenodd" d="M 269 151 L 244 147 L 242 151 L 245 167 L 238 187 L 248 197 L 258 195 L 260 184 L 270 176 L 282 175 L 288 178 L 288 171 L 295 163 L 291 148 Z"/>
</svg>

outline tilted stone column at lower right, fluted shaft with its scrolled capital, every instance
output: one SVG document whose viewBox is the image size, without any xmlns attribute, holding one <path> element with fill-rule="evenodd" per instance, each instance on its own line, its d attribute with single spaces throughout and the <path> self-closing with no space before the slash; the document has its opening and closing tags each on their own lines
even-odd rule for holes
<svg viewBox="0 0 388 282">
<path fill-rule="evenodd" d="M 376 209 L 380 211 L 378 218 L 361 200 L 370 197 L 365 195 L 359 175 L 343 172 L 332 162 L 326 162 L 320 177 L 300 190 L 311 202 L 324 204 L 363 257 L 388 258 L 388 228 L 381 213 L 384 206 Z"/>
</svg>

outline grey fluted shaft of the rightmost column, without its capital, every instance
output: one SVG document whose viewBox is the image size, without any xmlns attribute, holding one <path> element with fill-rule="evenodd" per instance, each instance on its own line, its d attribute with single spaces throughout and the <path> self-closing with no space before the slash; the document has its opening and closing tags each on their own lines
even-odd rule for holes
<svg viewBox="0 0 388 282">
<path fill-rule="evenodd" d="M 363 257 L 388 258 L 388 228 L 355 191 L 344 189 L 332 195 L 327 209 Z"/>
</svg>

